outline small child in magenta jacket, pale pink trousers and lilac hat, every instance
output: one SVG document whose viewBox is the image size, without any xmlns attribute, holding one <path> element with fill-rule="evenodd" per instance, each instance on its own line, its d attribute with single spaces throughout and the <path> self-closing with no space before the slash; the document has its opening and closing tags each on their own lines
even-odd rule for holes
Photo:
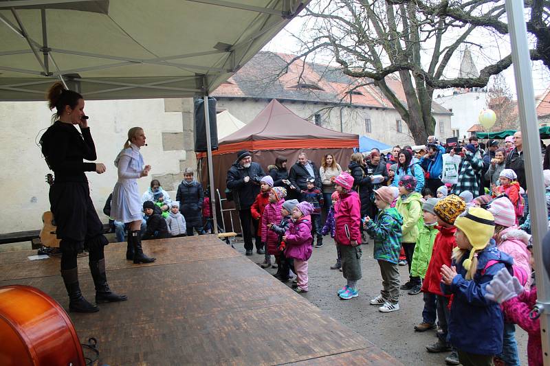
<svg viewBox="0 0 550 366">
<path fill-rule="evenodd" d="M 292 210 L 292 220 L 283 236 L 286 243 L 285 255 L 294 260 L 296 270 L 296 293 L 307 293 L 307 260 L 311 257 L 313 237 L 311 236 L 311 212 L 314 207 L 309 202 L 300 202 Z"/>
</svg>

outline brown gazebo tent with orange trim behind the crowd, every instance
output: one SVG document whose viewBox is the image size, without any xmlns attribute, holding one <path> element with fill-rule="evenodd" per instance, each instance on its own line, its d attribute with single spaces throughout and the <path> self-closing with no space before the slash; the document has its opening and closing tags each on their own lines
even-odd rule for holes
<svg viewBox="0 0 550 366">
<path fill-rule="evenodd" d="M 227 172 L 239 150 L 249 150 L 252 160 L 259 163 L 267 173 L 267 166 L 274 164 L 278 155 L 287 158 L 287 169 L 290 170 L 302 150 L 305 150 L 308 158 L 318 166 L 323 155 L 330 153 L 345 169 L 353 148 L 358 147 L 358 135 L 316 126 L 298 117 L 277 100 L 272 100 L 245 127 L 219 141 L 219 149 L 212 152 L 214 184 L 221 192 L 222 198 L 225 197 L 223 192 Z M 197 157 L 201 159 L 204 155 L 200 154 Z M 201 160 L 201 178 L 206 182 L 206 159 Z M 224 208 L 228 208 L 225 205 L 224 203 Z"/>
</svg>

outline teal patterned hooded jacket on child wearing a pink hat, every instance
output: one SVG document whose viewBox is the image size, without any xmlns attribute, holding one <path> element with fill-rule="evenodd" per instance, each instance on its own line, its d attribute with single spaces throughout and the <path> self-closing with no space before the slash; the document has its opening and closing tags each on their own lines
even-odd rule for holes
<svg viewBox="0 0 550 366">
<path fill-rule="evenodd" d="M 397 209 L 378 211 L 375 220 L 366 222 L 366 231 L 374 236 L 374 259 L 397 264 L 401 251 L 403 219 Z"/>
</svg>

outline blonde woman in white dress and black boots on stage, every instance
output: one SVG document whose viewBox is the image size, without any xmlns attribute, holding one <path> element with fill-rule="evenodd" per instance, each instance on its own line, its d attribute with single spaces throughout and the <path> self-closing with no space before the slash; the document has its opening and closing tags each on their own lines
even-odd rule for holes
<svg viewBox="0 0 550 366">
<path fill-rule="evenodd" d="M 155 258 L 144 255 L 140 227 L 142 224 L 142 200 L 137 188 L 137 179 L 147 176 L 151 165 L 145 165 L 140 148 L 145 145 L 145 133 L 141 127 L 132 127 L 124 148 L 115 159 L 118 181 L 113 190 L 111 216 L 120 222 L 129 223 L 126 259 L 134 263 L 151 263 Z"/>
</svg>

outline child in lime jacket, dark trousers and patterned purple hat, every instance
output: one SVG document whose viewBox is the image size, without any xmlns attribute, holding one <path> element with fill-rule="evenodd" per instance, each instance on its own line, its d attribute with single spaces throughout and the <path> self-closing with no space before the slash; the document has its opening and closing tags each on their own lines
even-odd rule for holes
<svg viewBox="0 0 550 366">
<path fill-rule="evenodd" d="M 415 192 L 417 180 L 412 175 L 404 175 L 399 179 L 399 198 L 395 208 L 403 217 L 401 226 L 401 246 L 407 258 L 409 280 L 401 286 L 401 290 L 410 290 L 422 284 L 420 277 L 410 275 L 412 264 L 412 253 L 415 252 L 415 245 L 418 239 L 418 222 L 422 217 L 422 196 Z"/>
</svg>

